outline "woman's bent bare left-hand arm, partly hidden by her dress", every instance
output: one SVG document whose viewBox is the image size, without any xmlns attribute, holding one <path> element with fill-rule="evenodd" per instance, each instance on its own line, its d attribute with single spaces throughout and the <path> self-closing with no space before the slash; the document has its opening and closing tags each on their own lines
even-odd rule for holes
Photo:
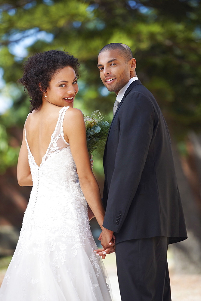
<svg viewBox="0 0 201 301">
<path fill-rule="evenodd" d="M 17 181 L 20 186 L 32 186 L 32 176 L 28 161 L 28 150 L 23 129 L 23 140 L 17 162 Z"/>
</svg>

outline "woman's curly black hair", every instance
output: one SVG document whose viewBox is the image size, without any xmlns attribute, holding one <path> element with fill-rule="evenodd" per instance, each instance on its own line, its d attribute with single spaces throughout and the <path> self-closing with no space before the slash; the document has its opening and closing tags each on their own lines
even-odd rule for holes
<svg viewBox="0 0 201 301">
<path fill-rule="evenodd" d="M 19 82 L 26 88 L 31 103 L 31 110 L 37 110 L 42 104 L 42 93 L 46 92 L 52 76 L 64 67 L 70 66 L 79 77 L 79 62 L 76 57 L 60 50 L 48 50 L 36 53 L 23 64 L 24 74 Z M 41 85 L 42 91 L 39 88 Z"/>
</svg>

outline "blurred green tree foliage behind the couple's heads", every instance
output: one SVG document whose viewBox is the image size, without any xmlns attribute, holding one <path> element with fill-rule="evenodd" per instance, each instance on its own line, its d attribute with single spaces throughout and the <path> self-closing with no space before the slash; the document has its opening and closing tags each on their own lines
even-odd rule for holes
<svg viewBox="0 0 201 301">
<path fill-rule="evenodd" d="M 28 95 L 25 97 L 16 83 L 22 75 L 22 62 L 48 49 L 66 49 L 79 57 L 81 78 L 77 105 L 85 112 L 99 109 L 108 114 L 114 95 L 108 94 L 100 81 L 97 54 L 110 42 L 128 44 L 137 59 L 139 78 L 153 92 L 177 138 L 183 140 L 189 129 L 199 129 L 199 1 L 21 0 L 1 3 L 0 66 L 6 82 L 2 93 L 7 93 L 13 101 L 0 119 L 2 172 L 16 164 L 19 151 L 8 143 L 13 136 L 10 129 L 21 128 L 28 113 Z"/>
</svg>

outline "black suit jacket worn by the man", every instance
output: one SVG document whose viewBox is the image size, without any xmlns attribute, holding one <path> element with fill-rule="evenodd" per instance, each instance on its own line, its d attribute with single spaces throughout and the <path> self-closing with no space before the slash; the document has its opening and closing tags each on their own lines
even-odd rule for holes
<svg viewBox="0 0 201 301">
<path fill-rule="evenodd" d="M 103 226 L 116 243 L 154 236 L 187 238 L 170 135 L 162 112 L 139 80 L 111 122 L 104 151 Z"/>
</svg>

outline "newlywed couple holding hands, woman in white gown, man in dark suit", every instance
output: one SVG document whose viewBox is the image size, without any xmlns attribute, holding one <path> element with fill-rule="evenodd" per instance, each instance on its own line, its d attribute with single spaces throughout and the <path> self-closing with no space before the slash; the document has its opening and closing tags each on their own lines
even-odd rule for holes
<svg viewBox="0 0 201 301">
<path fill-rule="evenodd" d="M 122 301 L 170 301 L 168 244 L 187 233 L 167 124 L 136 76 L 131 49 L 102 48 L 100 78 L 117 98 L 101 200 L 83 114 L 73 108 L 78 67 L 76 58 L 55 50 L 25 63 L 20 82 L 32 109 L 17 179 L 33 187 L 0 300 L 112 300 L 101 256 L 115 251 Z M 93 216 L 102 229 L 100 250 L 89 227 Z"/>
</svg>

